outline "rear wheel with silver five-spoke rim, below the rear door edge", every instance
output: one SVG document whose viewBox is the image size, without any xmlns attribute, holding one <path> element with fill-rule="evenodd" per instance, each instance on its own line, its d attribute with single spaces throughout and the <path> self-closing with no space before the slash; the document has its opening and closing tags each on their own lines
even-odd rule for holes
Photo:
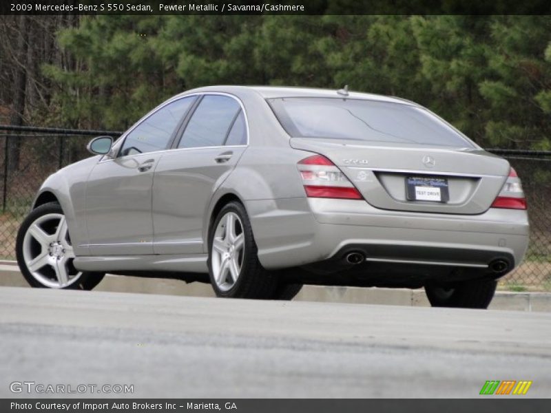
<svg viewBox="0 0 551 413">
<path fill-rule="evenodd" d="M 262 267 L 257 253 L 245 207 L 239 202 L 229 202 L 209 231 L 209 277 L 218 297 L 270 299 L 273 296 L 277 279 Z"/>
</svg>

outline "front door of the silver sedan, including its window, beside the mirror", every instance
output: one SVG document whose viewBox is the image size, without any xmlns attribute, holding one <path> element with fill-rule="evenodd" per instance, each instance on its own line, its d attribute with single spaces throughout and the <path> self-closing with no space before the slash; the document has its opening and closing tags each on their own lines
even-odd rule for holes
<svg viewBox="0 0 551 413">
<path fill-rule="evenodd" d="M 138 123 L 114 159 L 94 167 L 86 188 L 92 255 L 153 253 L 153 173 L 196 97 L 175 100 Z"/>
</svg>

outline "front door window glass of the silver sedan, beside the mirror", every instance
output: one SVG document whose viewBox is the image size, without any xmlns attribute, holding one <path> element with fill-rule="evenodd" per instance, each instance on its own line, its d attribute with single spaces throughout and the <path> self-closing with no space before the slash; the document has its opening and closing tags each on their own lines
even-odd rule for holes
<svg viewBox="0 0 551 413">
<path fill-rule="evenodd" d="M 174 100 L 143 120 L 126 136 L 120 156 L 166 149 L 174 129 L 195 99 L 196 96 L 189 96 Z"/>
</svg>

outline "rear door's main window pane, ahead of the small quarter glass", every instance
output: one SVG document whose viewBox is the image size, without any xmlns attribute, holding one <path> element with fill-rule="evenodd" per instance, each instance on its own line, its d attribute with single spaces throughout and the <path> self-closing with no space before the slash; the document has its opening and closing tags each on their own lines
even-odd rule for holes
<svg viewBox="0 0 551 413">
<path fill-rule="evenodd" d="M 241 107 L 229 96 L 206 95 L 200 101 L 178 148 L 222 146 Z"/>
</svg>

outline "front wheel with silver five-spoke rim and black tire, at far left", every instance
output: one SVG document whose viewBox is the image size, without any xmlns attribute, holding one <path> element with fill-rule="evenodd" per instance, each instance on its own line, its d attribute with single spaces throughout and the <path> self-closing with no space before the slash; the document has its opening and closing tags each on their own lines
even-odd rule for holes
<svg viewBox="0 0 551 413">
<path fill-rule="evenodd" d="M 35 288 L 92 290 L 103 273 L 78 271 L 63 209 L 49 202 L 33 209 L 19 227 L 15 244 L 17 264 Z"/>
</svg>

